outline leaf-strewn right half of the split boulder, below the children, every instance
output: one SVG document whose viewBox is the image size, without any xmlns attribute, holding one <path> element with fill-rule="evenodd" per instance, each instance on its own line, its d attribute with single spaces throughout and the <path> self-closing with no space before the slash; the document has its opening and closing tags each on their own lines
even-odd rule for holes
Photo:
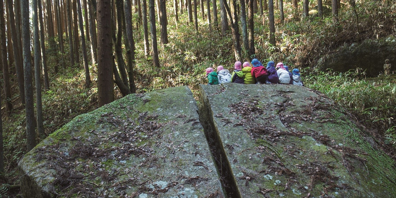
<svg viewBox="0 0 396 198">
<path fill-rule="evenodd" d="M 320 92 L 236 83 L 200 91 L 201 123 L 222 144 L 214 158 L 231 169 L 233 197 L 394 197 L 395 162 Z"/>
</svg>

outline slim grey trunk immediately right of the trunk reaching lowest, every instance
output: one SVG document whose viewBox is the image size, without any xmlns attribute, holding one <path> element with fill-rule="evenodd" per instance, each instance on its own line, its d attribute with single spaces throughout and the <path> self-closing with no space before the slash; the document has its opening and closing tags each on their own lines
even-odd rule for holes
<svg viewBox="0 0 396 198">
<path fill-rule="evenodd" d="M 33 46 L 34 46 L 34 79 L 36 84 L 36 123 L 37 123 L 37 132 L 40 136 L 44 136 L 44 125 L 43 125 L 43 107 L 42 107 L 42 99 L 41 99 L 41 66 L 40 66 L 40 36 L 38 34 L 38 8 L 37 1 L 40 0 L 32 0 L 32 9 L 33 9 Z M 56 2 L 56 0 L 55 0 Z M 58 23 L 58 26 L 59 23 Z M 59 29 L 58 29 L 59 31 Z"/>
</svg>

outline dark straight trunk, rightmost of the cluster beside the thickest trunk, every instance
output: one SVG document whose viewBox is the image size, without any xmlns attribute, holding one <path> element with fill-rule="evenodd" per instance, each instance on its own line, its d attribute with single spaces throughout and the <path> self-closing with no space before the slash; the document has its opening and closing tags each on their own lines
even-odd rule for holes
<svg viewBox="0 0 396 198">
<path fill-rule="evenodd" d="M 122 0 L 120 0 L 120 3 L 123 3 Z M 132 29 L 132 17 L 131 17 L 131 2 L 130 0 L 125 0 L 125 4 L 123 4 L 124 10 L 123 15 L 124 15 L 124 20 L 125 24 L 123 24 L 123 32 L 124 32 L 124 37 L 127 38 L 127 40 L 124 38 L 124 43 L 125 43 L 125 49 L 126 49 L 126 58 L 127 58 L 127 63 L 128 63 L 128 77 L 129 77 L 129 90 L 131 93 L 136 93 L 136 85 L 135 85 L 135 72 L 133 71 L 135 64 L 135 41 L 133 40 L 133 29 Z"/>
</svg>

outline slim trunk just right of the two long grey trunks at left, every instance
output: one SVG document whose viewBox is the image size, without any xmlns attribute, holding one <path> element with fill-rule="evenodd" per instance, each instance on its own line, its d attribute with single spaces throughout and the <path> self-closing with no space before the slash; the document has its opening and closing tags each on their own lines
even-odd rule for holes
<svg viewBox="0 0 396 198">
<path fill-rule="evenodd" d="M 37 1 L 38 6 L 38 19 L 40 22 L 40 51 L 41 51 L 41 65 L 42 65 L 42 73 L 44 77 L 44 88 L 46 91 L 49 90 L 49 79 L 48 79 L 48 69 L 47 69 L 47 53 L 46 53 L 46 45 L 44 43 L 44 21 L 42 15 L 42 4 L 41 0 Z"/>
</svg>

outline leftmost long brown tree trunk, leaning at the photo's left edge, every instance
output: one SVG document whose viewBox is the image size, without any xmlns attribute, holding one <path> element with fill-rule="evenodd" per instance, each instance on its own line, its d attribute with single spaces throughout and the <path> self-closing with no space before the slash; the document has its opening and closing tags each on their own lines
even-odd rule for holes
<svg viewBox="0 0 396 198">
<path fill-rule="evenodd" d="M 8 62 L 7 62 L 6 20 L 4 19 L 5 12 L 4 12 L 3 0 L 0 0 L 0 13 L 2 14 L 0 16 L 0 60 L 1 60 L 1 64 L 3 65 L 4 96 L 6 98 L 4 102 L 6 104 L 7 114 L 10 115 L 12 109 L 12 103 L 11 103 L 12 95 L 11 95 L 11 85 L 10 85 L 10 71 L 8 69 Z M 2 172 L 2 164 L 0 164 L 0 172 Z"/>
</svg>

